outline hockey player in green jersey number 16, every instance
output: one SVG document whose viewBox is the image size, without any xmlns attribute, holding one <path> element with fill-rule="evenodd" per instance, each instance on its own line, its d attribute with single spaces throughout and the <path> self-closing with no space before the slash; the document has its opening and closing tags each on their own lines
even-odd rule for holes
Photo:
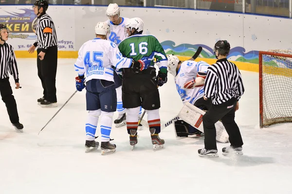
<svg viewBox="0 0 292 194">
<path fill-rule="evenodd" d="M 167 81 L 167 57 L 161 44 L 153 35 L 143 35 L 144 23 L 135 17 L 126 23 L 128 37 L 119 44 L 123 56 L 137 61 L 150 60 L 150 65 L 143 71 L 125 68 L 123 70 L 122 100 L 127 113 L 127 129 L 132 148 L 137 144 L 138 114 L 140 106 L 146 110 L 153 149 L 163 148 L 164 140 L 160 139 L 160 97 L 158 86 Z M 126 34 L 126 35 L 127 35 Z M 119 57 L 119 56 L 117 56 Z M 159 67 L 158 75 L 154 67 L 154 58 Z"/>
</svg>

